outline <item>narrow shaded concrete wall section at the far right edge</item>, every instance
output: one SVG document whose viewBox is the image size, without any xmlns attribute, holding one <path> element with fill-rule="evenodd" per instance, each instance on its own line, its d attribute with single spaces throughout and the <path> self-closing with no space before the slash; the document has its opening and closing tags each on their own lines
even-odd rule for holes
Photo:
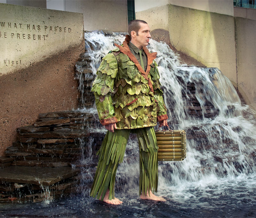
<svg viewBox="0 0 256 218">
<path fill-rule="evenodd" d="M 235 18 L 238 89 L 256 109 L 256 20 Z"/>
</svg>

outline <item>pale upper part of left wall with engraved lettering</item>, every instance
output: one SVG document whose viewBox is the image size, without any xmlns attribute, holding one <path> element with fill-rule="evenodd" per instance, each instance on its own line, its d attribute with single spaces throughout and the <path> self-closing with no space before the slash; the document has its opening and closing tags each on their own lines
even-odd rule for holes
<svg viewBox="0 0 256 218">
<path fill-rule="evenodd" d="M 80 44 L 83 14 L 0 4 L 0 75 Z"/>
</svg>

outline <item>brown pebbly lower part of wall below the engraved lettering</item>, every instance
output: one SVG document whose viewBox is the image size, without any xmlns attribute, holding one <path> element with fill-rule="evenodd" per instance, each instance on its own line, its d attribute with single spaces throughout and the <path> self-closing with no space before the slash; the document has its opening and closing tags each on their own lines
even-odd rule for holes
<svg viewBox="0 0 256 218">
<path fill-rule="evenodd" d="M 0 156 L 15 141 L 16 128 L 34 124 L 39 113 L 77 107 L 74 66 L 84 41 L 28 68 L 0 76 Z"/>
</svg>

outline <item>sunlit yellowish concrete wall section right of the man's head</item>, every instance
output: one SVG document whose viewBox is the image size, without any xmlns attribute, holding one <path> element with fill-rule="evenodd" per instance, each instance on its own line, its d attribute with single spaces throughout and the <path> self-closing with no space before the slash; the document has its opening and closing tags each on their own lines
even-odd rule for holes
<svg viewBox="0 0 256 218">
<path fill-rule="evenodd" d="M 232 16 L 169 5 L 169 32 L 176 49 L 207 67 L 218 67 L 236 86 Z"/>
</svg>

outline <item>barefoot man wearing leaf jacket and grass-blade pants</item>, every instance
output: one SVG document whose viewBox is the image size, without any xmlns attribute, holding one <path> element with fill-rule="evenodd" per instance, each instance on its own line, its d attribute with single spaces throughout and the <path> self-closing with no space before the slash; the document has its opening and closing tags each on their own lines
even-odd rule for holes
<svg viewBox="0 0 256 218">
<path fill-rule="evenodd" d="M 165 201 L 157 191 L 158 162 L 154 126 L 167 124 L 167 109 L 159 83 L 156 52 L 149 53 L 148 24 L 132 20 L 123 45 L 103 57 L 93 82 L 100 123 L 108 130 L 100 150 L 91 196 L 108 204 L 115 198 L 115 175 L 130 133 L 136 133 L 140 149 L 140 198 Z"/>
</svg>

